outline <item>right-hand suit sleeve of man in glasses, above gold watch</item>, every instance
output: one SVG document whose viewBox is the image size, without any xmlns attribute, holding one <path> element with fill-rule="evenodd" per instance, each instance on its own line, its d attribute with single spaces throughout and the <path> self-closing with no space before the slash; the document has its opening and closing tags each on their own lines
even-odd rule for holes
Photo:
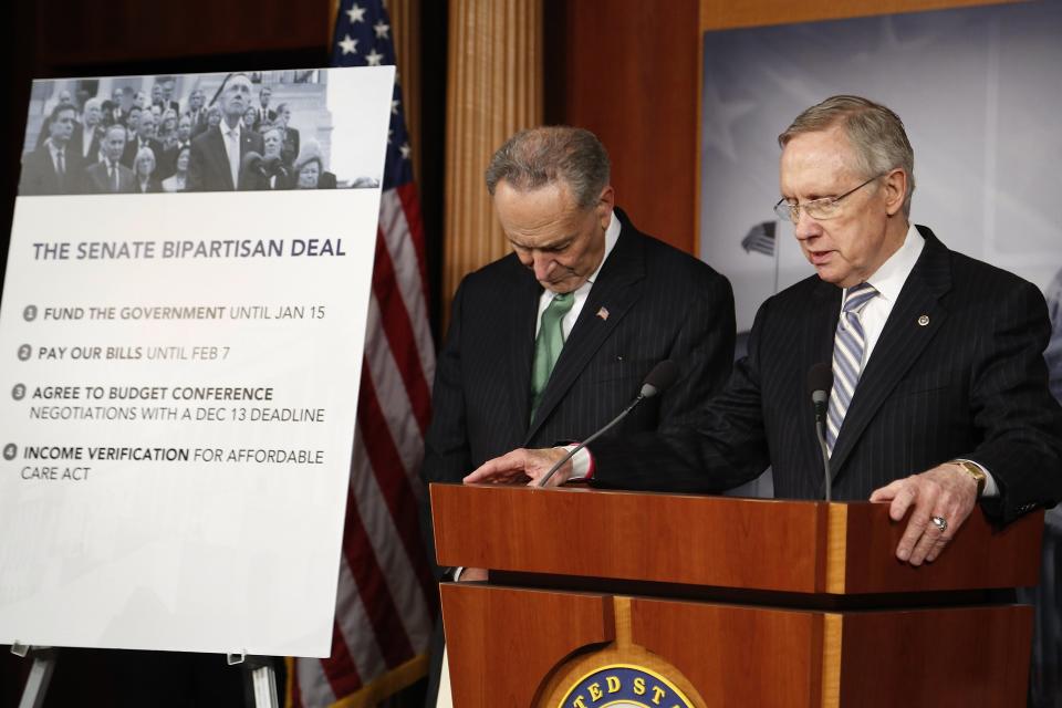
<svg viewBox="0 0 1062 708">
<path fill-rule="evenodd" d="M 986 312 L 985 319 L 978 341 L 981 354 L 970 386 L 970 407 L 981 442 L 957 457 L 975 460 L 991 472 L 1000 496 L 986 499 L 982 506 L 1006 523 L 1038 506 L 1059 501 L 1062 412 L 1045 385 L 1043 351 L 1051 332 L 1040 291 L 1022 282 Z"/>
</svg>

